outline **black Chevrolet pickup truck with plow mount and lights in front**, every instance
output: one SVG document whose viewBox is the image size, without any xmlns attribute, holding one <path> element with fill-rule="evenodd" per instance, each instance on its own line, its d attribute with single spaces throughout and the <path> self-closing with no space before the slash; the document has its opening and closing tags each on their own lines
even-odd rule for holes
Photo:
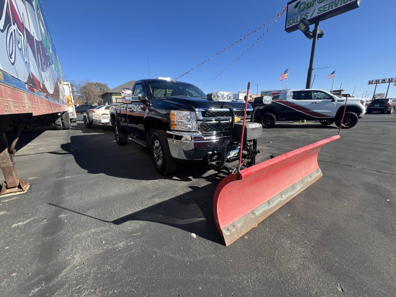
<svg viewBox="0 0 396 297">
<path fill-rule="evenodd" d="M 156 170 L 167 175 L 179 162 L 207 162 L 211 168 L 232 167 L 239 158 L 245 104 L 232 101 L 232 93 L 205 95 L 199 88 L 170 79 L 145 79 L 123 89 L 123 104 L 110 112 L 118 145 L 130 141 L 151 153 Z M 252 166 L 262 127 L 250 123 L 247 108 L 242 157 Z"/>
</svg>

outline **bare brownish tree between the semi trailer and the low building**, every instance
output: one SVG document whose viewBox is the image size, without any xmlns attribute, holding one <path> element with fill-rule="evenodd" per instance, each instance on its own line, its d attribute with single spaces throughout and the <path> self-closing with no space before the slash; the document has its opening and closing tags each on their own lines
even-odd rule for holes
<svg viewBox="0 0 396 297">
<path fill-rule="evenodd" d="M 107 84 L 101 82 L 91 82 L 88 78 L 80 82 L 72 82 L 75 98 L 74 101 L 78 104 L 101 105 L 103 99 L 99 95 L 110 90 Z"/>
</svg>

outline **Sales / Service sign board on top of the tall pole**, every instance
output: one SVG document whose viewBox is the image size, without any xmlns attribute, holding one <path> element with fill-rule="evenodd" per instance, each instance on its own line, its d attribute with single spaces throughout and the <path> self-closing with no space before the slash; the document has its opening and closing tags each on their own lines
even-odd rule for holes
<svg viewBox="0 0 396 297">
<path fill-rule="evenodd" d="M 285 31 L 298 30 L 301 19 L 307 19 L 312 25 L 359 7 L 360 0 L 292 0 L 287 3 Z"/>
</svg>

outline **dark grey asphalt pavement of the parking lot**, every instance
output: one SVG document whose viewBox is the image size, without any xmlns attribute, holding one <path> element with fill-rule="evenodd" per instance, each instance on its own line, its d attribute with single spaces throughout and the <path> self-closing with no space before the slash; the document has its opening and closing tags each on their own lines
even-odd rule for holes
<svg viewBox="0 0 396 297">
<path fill-rule="evenodd" d="M 396 114 L 343 130 L 319 154 L 324 176 L 228 247 L 212 210 L 224 175 L 162 177 L 144 148 L 81 119 L 21 136 L 31 186 L 0 198 L 0 295 L 395 296 Z M 337 131 L 278 123 L 259 158 Z"/>
</svg>

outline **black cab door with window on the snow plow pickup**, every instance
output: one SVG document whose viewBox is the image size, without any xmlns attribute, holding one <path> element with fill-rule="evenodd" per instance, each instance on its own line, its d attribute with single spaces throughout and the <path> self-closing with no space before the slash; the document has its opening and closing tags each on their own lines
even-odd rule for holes
<svg viewBox="0 0 396 297">
<path fill-rule="evenodd" d="M 143 90 L 140 83 L 135 84 L 132 94 L 135 96 L 147 96 L 147 93 Z M 137 135 L 144 139 L 144 127 L 143 120 L 147 111 L 147 104 L 145 101 L 133 100 L 128 103 L 127 108 L 127 119 L 128 119 L 128 130 L 131 134 Z"/>
</svg>

